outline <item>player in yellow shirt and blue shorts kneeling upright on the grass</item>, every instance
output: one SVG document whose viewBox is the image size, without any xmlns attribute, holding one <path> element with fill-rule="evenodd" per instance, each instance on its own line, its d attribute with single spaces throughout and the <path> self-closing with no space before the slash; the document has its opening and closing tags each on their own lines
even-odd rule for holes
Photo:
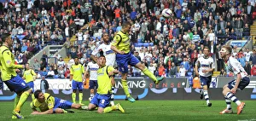
<svg viewBox="0 0 256 121">
<path fill-rule="evenodd" d="M 125 112 L 120 104 L 108 107 L 112 92 L 111 77 L 119 72 L 115 70 L 113 66 L 106 66 L 106 58 L 104 55 L 99 57 L 98 64 L 100 66 L 100 68 L 97 70 L 98 90 L 96 95 L 94 95 L 90 101 L 88 110 L 93 110 L 98 107 L 97 112 L 99 113 L 107 113 L 113 110 Z"/>
</svg>

